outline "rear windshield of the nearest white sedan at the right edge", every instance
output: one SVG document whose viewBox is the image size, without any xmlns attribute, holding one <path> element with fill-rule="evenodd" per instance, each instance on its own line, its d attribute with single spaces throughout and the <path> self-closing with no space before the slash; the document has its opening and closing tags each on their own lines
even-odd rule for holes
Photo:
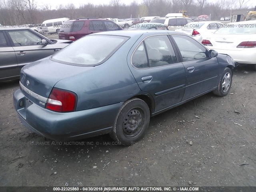
<svg viewBox="0 0 256 192">
<path fill-rule="evenodd" d="M 256 24 L 226 24 L 215 34 L 256 34 Z"/>
</svg>

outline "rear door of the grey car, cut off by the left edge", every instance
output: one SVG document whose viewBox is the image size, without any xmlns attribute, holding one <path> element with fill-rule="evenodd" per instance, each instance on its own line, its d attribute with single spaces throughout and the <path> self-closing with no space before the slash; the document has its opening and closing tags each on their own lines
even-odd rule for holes
<svg viewBox="0 0 256 192">
<path fill-rule="evenodd" d="M 19 75 L 18 64 L 5 31 L 0 31 L 0 80 Z"/>
</svg>

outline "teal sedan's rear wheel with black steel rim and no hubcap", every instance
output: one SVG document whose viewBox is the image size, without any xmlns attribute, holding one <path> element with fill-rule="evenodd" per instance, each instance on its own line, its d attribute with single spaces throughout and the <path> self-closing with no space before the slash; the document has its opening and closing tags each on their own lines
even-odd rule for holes
<svg viewBox="0 0 256 192">
<path fill-rule="evenodd" d="M 116 142 L 130 146 L 144 136 L 149 120 L 150 110 L 146 102 L 138 98 L 130 99 L 119 110 L 110 136 Z"/>
</svg>

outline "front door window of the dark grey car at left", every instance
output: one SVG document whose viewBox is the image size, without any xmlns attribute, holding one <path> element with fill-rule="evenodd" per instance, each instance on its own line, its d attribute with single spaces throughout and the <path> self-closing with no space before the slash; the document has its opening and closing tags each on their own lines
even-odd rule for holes
<svg viewBox="0 0 256 192">
<path fill-rule="evenodd" d="M 8 31 L 14 46 L 42 45 L 42 39 L 28 30 Z"/>
</svg>

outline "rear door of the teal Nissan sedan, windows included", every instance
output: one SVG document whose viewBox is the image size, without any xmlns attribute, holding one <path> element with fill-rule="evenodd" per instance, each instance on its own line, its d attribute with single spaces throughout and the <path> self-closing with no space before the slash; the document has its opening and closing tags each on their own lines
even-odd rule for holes
<svg viewBox="0 0 256 192">
<path fill-rule="evenodd" d="M 129 53 L 131 56 L 134 51 L 128 63 L 140 89 L 154 98 L 154 112 L 180 102 L 185 91 L 186 72 L 168 36 L 150 36 L 138 43 Z"/>
</svg>

